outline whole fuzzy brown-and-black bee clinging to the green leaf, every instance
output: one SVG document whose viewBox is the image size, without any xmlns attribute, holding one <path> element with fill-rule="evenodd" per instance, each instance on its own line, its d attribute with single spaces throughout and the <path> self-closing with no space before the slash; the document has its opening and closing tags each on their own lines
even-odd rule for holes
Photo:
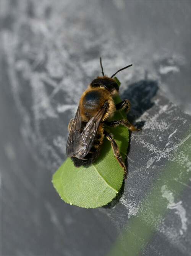
<svg viewBox="0 0 191 256">
<path fill-rule="evenodd" d="M 88 166 L 94 162 L 100 153 L 104 137 L 112 146 L 113 154 L 127 176 L 125 162 L 120 156 L 119 148 L 113 135 L 105 130 L 106 127 L 116 127 L 123 125 L 130 131 L 140 131 L 128 120 L 108 121 L 118 110 L 125 109 L 127 112 L 131 108 L 129 100 L 122 100 L 114 103 L 113 98 L 118 94 L 119 85 L 113 77 L 120 71 L 131 67 L 131 65 L 119 69 L 111 77 L 104 75 L 102 59 L 100 57 L 102 76 L 97 76 L 87 90 L 84 91 L 80 100 L 75 118 L 70 120 L 68 131 L 70 135 L 66 144 L 67 156 L 71 158 L 75 167 Z"/>
</svg>

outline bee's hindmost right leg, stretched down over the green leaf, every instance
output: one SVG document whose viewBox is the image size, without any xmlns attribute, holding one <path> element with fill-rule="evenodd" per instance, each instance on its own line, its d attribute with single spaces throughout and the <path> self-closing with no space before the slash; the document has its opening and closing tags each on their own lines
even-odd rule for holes
<svg viewBox="0 0 191 256">
<path fill-rule="evenodd" d="M 113 149 L 113 154 L 114 154 L 115 158 L 117 159 L 117 161 L 119 162 L 120 166 L 123 168 L 124 177 L 126 179 L 126 177 L 127 177 L 127 168 L 125 166 L 125 163 L 123 162 L 123 159 L 120 156 L 120 152 L 119 152 L 119 148 L 117 146 L 117 143 L 113 139 L 113 135 L 111 135 L 110 133 L 108 133 L 105 130 L 104 130 L 104 135 L 111 142 L 112 149 Z"/>
</svg>

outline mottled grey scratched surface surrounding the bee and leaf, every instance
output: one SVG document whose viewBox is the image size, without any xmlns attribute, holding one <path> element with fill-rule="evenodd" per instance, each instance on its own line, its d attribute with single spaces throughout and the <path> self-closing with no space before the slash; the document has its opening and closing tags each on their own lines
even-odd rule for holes
<svg viewBox="0 0 191 256">
<path fill-rule="evenodd" d="M 106 255 L 141 214 L 154 233 L 139 255 L 191 255 L 191 178 L 181 182 L 191 171 L 190 15 L 190 1 L 0 0 L 1 255 Z M 100 56 L 108 75 L 133 64 L 118 74 L 120 95 L 143 131 L 131 135 L 121 198 L 83 209 L 63 202 L 51 179 Z M 180 180 L 161 180 L 156 195 L 167 214 L 144 216 L 144 197 L 171 163 Z"/>
</svg>

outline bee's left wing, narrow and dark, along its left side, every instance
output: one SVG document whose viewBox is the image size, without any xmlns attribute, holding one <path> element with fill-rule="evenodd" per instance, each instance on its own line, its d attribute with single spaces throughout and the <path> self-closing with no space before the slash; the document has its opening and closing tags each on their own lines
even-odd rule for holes
<svg viewBox="0 0 191 256">
<path fill-rule="evenodd" d="M 73 124 L 71 126 L 70 135 L 68 137 L 68 141 L 66 144 L 66 154 L 69 158 L 76 154 L 76 151 L 78 151 L 78 148 L 82 143 L 82 136 L 81 136 L 80 130 L 81 130 L 81 114 L 80 114 L 80 108 L 78 107 Z"/>
</svg>

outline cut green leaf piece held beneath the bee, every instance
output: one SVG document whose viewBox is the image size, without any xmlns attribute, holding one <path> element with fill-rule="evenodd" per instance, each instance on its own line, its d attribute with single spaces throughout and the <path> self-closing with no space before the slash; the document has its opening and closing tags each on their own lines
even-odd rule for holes
<svg viewBox="0 0 191 256">
<path fill-rule="evenodd" d="M 121 102 L 120 96 L 115 103 Z M 125 111 L 117 112 L 112 120 L 125 119 Z M 125 161 L 129 143 L 128 129 L 124 126 L 108 128 L 113 134 Z M 104 138 L 99 158 L 90 166 L 74 167 L 70 158 L 53 174 L 53 186 L 60 197 L 71 205 L 96 208 L 106 205 L 119 192 L 123 182 L 123 168 L 113 155 L 110 141 Z"/>
</svg>

